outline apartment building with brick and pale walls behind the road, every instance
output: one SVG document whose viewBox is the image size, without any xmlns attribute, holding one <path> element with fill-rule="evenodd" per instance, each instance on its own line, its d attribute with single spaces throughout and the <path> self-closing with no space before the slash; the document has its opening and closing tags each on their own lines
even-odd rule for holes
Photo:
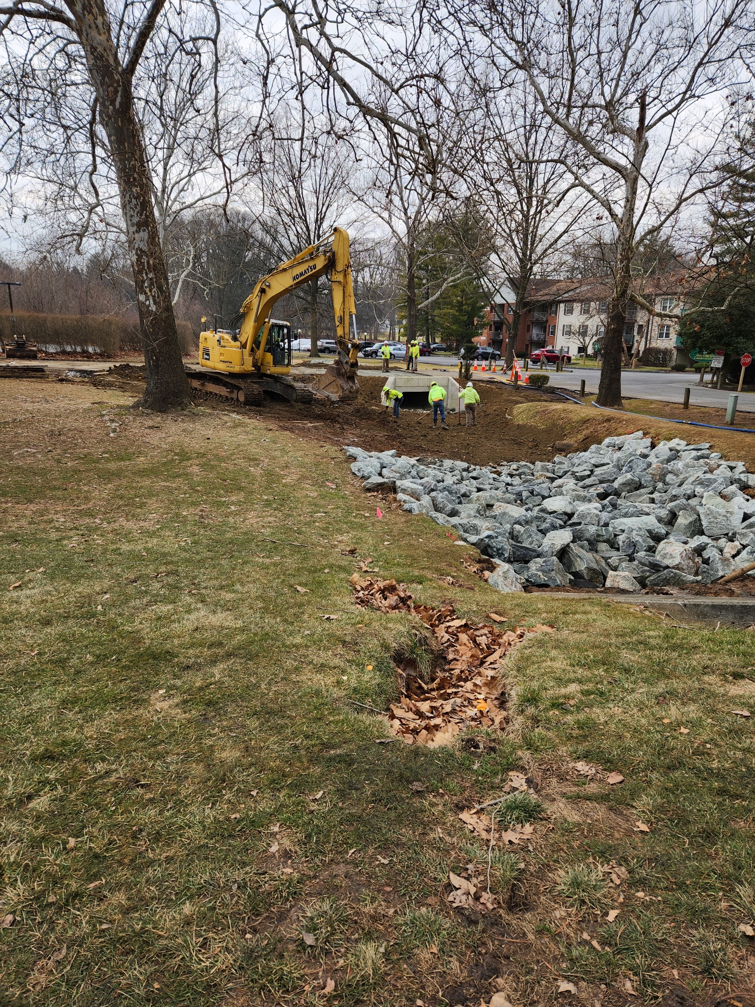
<svg viewBox="0 0 755 1007">
<path fill-rule="evenodd" d="M 670 275 L 643 280 L 642 297 L 656 311 L 678 310 L 677 279 Z M 528 356 L 544 346 L 570 356 L 584 352 L 585 346 L 593 352 L 605 333 L 610 289 L 610 284 L 601 280 L 534 280 L 516 335 L 516 355 Z M 513 290 L 503 284 L 490 302 L 490 323 L 476 341 L 505 352 L 505 321 L 513 313 Z M 653 315 L 630 301 L 624 342 L 629 353 L 638 344 L 640 352 L 648 346 L 675 349 L 676 321 Z"/>
</svg>

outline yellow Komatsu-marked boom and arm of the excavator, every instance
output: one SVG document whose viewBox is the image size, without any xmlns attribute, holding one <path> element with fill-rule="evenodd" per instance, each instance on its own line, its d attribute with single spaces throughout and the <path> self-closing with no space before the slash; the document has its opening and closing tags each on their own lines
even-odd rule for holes
<svg viewBox="0 0 755 1007">
<path fill-rule="evenodd" d="M 342 228 L 335 228 L 327 238 L 310 245 L 288 262 L 281 263 L 260 280 L 242 305 L 244 321 L 239 341 L 258 371 L 262 367 L 270 315 L 276 301 L 324 274 L 328 274 L 330 280 L 339 363 L 347 372 L 356 369 L 356 305 L 351 283 L 348 234 Z"/>
</svg>

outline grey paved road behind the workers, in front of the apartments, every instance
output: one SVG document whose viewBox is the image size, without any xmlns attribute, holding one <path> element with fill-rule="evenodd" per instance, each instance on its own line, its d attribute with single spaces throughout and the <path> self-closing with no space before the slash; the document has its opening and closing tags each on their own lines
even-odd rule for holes
<svg viewBox="0 0 755 1007">
<path fill-rule="evenodd" d="M 427 357 L 423 357 L 427 359 Z M 458 359 L 455 356 L 433 356 L 433 363 L 442 368 L 458 367 Z M 500 374 L 498 366 L 496 374 Z M 556 374 L 555 369 L 550 372 L 551 384 L 558 385 L 559 388 L 573 389 L 579 391 L 580 382 L 585 379 L 585 390 L 588 393 L 598 391 L 600 382 L 600 371 L 582 368 L 573 371 L 564 371 Z M 710 374 L 710 372 L 709 372 Z M 480 378 L 482 375 L 480 375 Z M 621 391 L 623 395 L 633 399 L 655 399 L 658 402 L 683 403 L 685 400 L 685 389 L 692 389 L 690 403 L 693 406 L 717 406 L 726 409 L 729 403 L 731 390 L 721 391 L 708 388 L 706 385 L 698 384 L 698 375 L 692 371 L 676 374 L 659 374 L 652 371 L 622 371 Z M 736 391 L 736 389 L 734 390 Z M 737 411 L 742 413 L 755 413 L 755 393 L 741 392 Z"/>
</svg>

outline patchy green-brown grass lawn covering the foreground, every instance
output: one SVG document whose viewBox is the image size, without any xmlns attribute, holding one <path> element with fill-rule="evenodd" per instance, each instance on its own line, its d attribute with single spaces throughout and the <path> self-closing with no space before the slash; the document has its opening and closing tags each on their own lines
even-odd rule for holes
<svg viewBox="0 0 755 1007">
<path fill-rule="evenodd" d="M 0 1002 L 600 1007 L 753 985 L 752 631 L 498 594 L 444 529 L 378 519 L 332 445 L 129 401 L 0 386 Z M 367 558 L 420 601 L 556 626 L 508 663 L 505 734 L 375 743 L 355 704 L 385 708 L 393 657 L 426 648 L 419 620 L 353 605 Z M 535 836 L 488 864 L 459 812 L 512 770 Z M 482 916 L 447 900 L 468 865 L 490 869 Z"/>
</svg>

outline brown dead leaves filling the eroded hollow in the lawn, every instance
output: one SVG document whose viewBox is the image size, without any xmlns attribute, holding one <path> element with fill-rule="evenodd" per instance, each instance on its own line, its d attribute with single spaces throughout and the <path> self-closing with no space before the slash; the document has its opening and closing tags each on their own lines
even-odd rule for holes
<svg viewBox="0 0 755 1007">
<path fill-rule="evenodd" d="M 551 629 L 537 625 L 502 630 L 484 622 L 456 618 L 453 605 L 431 608 L 415 605 L 405 584 L 395 580 L 351 577 L 354 601 L 380 611 L 412 611 L 429 626 L 442 657 L 435 663 L 432 681 L 405 671 L 399 703 L 391 704 L 389 725 L 409 744 L 447 745 L 463 730 L 492 727 L 501 730 L 508 714 L 500 681 L 500 666 L 514 644 L 528 633 Z"/>
</svg>

